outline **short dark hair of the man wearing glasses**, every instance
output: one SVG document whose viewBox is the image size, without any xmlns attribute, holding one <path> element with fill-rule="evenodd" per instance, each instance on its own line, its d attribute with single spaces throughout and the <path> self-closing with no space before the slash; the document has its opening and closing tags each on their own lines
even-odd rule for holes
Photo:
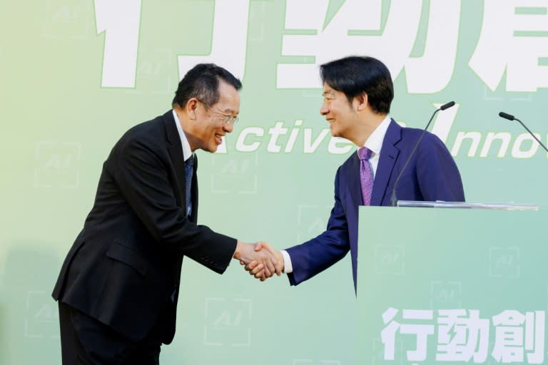
<svg viewBox="0 0 548 365">
<path fill-rule="evenodd" d="M 213 106 L 219 100 L 219 80 L 234 86 L 236 90 L 242 88 L 241 81 L 225 68 L 214 63 L 198 63 L 179 82 L 171 105 L 184 108 L 191 98 L 197 98 L 205 106 Z"/>
</svg>

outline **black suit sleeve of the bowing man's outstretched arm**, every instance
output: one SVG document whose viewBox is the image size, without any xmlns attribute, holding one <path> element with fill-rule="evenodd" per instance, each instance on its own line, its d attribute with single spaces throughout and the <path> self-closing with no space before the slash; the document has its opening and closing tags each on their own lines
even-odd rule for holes
<svg viewBox="0 0 548 365">
<path fill-rule="evenodd" d="M 216 272 L 223 272 L 236 247 L 234 238 L 196 225 L 177 205 L 166 163 L 142 140 L 130 139 L 116 155 L 114 177 L 133 212 L 153 239 Z"/>
</svg>

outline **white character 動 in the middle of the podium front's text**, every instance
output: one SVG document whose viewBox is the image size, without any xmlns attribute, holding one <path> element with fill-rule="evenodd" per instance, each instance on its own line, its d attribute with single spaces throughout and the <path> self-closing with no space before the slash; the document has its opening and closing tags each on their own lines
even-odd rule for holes
<svg viewBox="0 0 548 365">
<path fill-rule="evenodd" d="M 470 361 L 487 359 L 489 319 L 480 319 L 480 312 L 466 309 L 440 309 L 437 319 L 437 361 Z"/>
</svg>

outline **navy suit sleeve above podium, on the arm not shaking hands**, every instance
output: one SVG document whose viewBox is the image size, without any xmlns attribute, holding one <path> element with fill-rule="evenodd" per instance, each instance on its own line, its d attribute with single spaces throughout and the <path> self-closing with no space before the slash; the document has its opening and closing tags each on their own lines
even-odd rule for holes
<svg viewBox="0 0 548 365">
<path fill-rule="evenodd" d="M 425 134 L 417 152 L 417 178 L 424 200 L 464 202 L 459 169 L 440 138 Z"/>
</svg>

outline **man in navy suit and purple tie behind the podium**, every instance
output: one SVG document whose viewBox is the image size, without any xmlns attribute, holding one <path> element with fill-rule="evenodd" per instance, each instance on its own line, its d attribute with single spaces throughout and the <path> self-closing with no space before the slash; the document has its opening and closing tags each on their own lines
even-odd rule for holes
<svg viewBox="0 0 548 365">
<path fill-rule="evenodd" d="M 352 153 L 335 175 L 335 205 L 328 227 L 318 237 L 276 252 L 284 263 L 291 285 L 310 279 L 345 257 L 352 257 L 352 279 L 356 288 L 357 211 L 360 205 L 390 205 L 395 180 L 410 157 L 422 130 L 402 128 L 388 116 L 394 98 L 388 68 L 372 57 L 352 56 L 320 66 L 323 105 L 320 113 L 330 124 L 331 134 L 346 138 L 358 148 L 370 150 L 369 174 L 360 180 L 360 158 Z M 372 185 L 364 202 L 365 185 Z M 432 133 L 426 133 L 412 155 L 397 185 L 400 200 L 445 200 L 464 202 L 457 165 L 449 151 Z M 268 245 L 258 245 L 256 250 Z M 240 262 L 243 264 L 243 262 Z M 255 262 L 245 265 L 250 274 L 265 279 Z"/>
</svg>

